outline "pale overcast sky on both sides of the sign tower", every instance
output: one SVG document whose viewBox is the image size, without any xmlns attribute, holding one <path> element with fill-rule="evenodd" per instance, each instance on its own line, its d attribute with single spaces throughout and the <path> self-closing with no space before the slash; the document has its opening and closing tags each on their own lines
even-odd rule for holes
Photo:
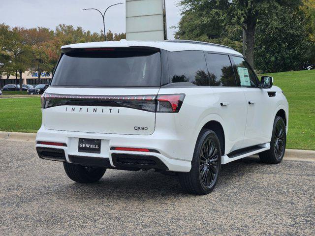
<svg viewBox="0 0 315 236">
<path fill-rule="evenodd" d="M 174 38 L 174 29 L 180 20 L 178 0 L 165 0 L 168 39 Z M 125 0 L 0 0 L 0 23 L 11 27 L 48 27 L 59 24 L 81 26 L 84 30 L 100 32 L 102 18 L 96 11 L 83 8 L 106 9 L 107 6 Z M 126 32 L 125 4 L 111 7 L 105 16 L 106 30 Z"/>
</svg>

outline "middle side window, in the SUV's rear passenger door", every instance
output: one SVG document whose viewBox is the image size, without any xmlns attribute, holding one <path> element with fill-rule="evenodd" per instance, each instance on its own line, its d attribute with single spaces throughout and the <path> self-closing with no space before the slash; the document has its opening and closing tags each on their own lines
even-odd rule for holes
<svg viewBox="0 0 315 236">
<path fill-rule="evenodd" d="M 210 86 L 236 87 L 236 80 L 229 56 L 206 53 Z"/>
</svg>

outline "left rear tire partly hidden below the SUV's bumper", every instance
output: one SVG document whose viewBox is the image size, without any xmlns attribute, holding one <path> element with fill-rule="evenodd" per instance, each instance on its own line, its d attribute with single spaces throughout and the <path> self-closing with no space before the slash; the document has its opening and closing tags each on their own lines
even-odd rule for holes
<svg viewBox="0 0 315 236">
<path fill-rule="evenodd" d="M 103 177 L 106 168 L 81 166 L 63 162 L 63 168 L 67 176 L 78 183 L 94 183 Z"/>
</svg>

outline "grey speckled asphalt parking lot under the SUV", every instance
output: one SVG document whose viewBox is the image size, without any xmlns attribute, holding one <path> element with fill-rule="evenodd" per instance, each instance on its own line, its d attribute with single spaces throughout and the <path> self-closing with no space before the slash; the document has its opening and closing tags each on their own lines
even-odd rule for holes
<svg viewBox="0 0 315 236">
<path fill-rule="evenodd" d="M 0 160 L 0 235 L 315 235 L 313 161 L 232 162 L 194 196 L 153 171 L 74 183 L 32 142 L 0 141 Z"/>
</svg>

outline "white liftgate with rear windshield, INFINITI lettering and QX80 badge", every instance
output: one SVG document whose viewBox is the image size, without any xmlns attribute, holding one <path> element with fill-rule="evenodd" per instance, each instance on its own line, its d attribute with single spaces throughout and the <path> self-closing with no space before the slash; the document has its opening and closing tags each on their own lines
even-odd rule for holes
<svg viewBox="0 0 315 236">
<path fill-rule="evenodd" d="M 88 49 L 65 53 L 43 96 L 47 129 L 150 135 L 161 83 L 160 53 Z"/>
</svg>

